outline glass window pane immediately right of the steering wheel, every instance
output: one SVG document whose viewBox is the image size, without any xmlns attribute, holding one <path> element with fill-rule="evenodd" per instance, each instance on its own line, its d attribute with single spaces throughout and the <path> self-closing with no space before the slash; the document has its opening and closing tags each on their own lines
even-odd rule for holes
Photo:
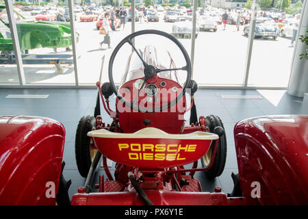
<svg viewBox="0 0 308 219">
<path fill-rule="evenodd" d="M 207 6 L 197 12 L 200 29 L 194 52 L 193 79 L 198 84 L 241 86 L 244 80 L 248 32 L 248 10 L 222 10 Z"/>
</svg>

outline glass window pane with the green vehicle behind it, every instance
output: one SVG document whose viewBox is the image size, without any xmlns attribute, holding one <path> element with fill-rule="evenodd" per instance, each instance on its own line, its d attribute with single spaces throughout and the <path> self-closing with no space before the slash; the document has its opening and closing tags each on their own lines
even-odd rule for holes
<svg viewBox="0 0 308 219">
<path fill-rule="evenodd" d="M 75 84 L 70 23 L 62 6 L 14 5 L 25 81 Z"/>
</svg>

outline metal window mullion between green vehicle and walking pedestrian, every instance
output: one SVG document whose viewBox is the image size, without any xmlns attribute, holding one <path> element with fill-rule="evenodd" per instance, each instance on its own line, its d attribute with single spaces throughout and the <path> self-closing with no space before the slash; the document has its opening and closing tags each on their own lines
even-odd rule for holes
<svg viewBox="0 0 308 219">
<path fill-rule="evenodd" d="M 78 68 L 77 68 L 77 51 L 76 51 L 76 25 L 75 25 L 75 12 L 73 10 L 73 0 L 68 0 L 68 10 L 70 12 L 70 38 L 72 40 L 73 49 L 73 61 L 74 61 L 74 71 L 75 71 L 75 86 L 79 86 L 78 81 Z"/>
</svg>

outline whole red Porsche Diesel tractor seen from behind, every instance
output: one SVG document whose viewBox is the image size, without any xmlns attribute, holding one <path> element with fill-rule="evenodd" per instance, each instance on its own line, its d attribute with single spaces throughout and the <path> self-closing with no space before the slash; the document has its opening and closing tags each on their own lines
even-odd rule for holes
<svg viewBox="0 0 308 219">
<path fill-rule="evenodd" d="M 157 62 L 155 47 L 136 47 L 134 38 L 147 35 L 173 42 L 185 64 L 175 66 L 170 56 L 166 67 Z M 116 84 L 116 56 L 127 45 L 133 52 Z M 131 70 L 134 57 L 140 65 Z M 233 192 L 224 194 L 221 188 L 203 192 L 194 173 L 205 171 L 207 177 L 218 177 L 224 170 L 227 140 L 218 116 L 196 116 L 197 84 L 191 79 L 190 58 L 183 45 L 162 31 L 137 31 L 114 49 L 108 73 L 110 82 L 97 82 L 97 87 L 112 123 L 103 121 L 99 98 L 94 116 L 79 120 L 75 152 L 86 183 L 71 201 L 67 195 L 70 181 L 61 173 L 63 125 L 47 118 L 0 118 L 4 133 L 0 137 L 0 177 L 6 179 L 0 182 L 0 204 L 308 204 L 308 116 L 264 116 L 237 123 L 234 137 L 239 173 L 232 175 Z M 112 94 L 116 94 L 115 110 L 109 104 Z M 188 111 L 190 125 L 185 126 Z M 92 188 L 101 158 L 107 179 L 100 176 Z M 116 162 L 114 175 L 107 158 Z M 202 168 L 197 168 L 198 159 Z M 191 167 L 185 168 L 186 164 Z M 47 181 L 54 182 L 54 196 Z"/>
</svg>

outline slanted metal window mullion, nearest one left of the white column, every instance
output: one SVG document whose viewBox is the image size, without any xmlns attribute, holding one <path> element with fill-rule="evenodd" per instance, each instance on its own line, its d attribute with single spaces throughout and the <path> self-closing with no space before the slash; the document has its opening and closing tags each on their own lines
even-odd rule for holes
<svg viewBox="0 0 308 219">
<path fill-rule="evenodd" d="M 249 24 L 249 36 L 248 36 L 248 47 L 246 53 L 246 67 L 245 67 L 245 77 L 243 81 L 243 86 L 247 88 L 249 69 L 251 68 L 251 54 L 253 52 L 253 38 L 255 36 L 255 22 L 257 18 L 257 5 L 259 0 L 253 0 L 253 12 L 251 13 L 251 23 Z"/>
</svg>

